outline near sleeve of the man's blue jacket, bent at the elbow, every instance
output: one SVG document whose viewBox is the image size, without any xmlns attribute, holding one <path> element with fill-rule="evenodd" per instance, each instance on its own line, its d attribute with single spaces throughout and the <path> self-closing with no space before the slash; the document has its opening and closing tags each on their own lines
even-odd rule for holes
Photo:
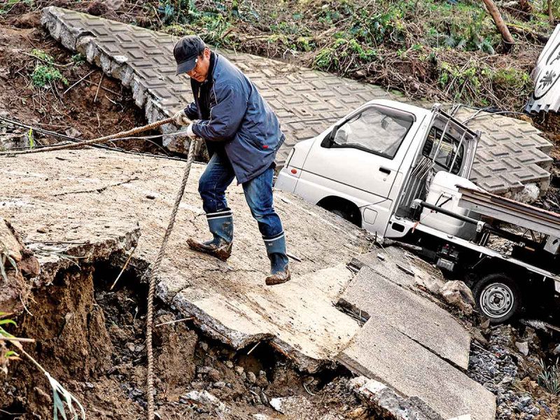
<svg viewBox="0 0 560 420">
<path fill-rule="evenodd" d="M 229 140 L 245 116 L 246 93 L 241 87 L 227 85 L 216 99 L 218 103 L 210 110 L 210 119 L 193 123 L 193 132 L 204 140 Z"/>
</svg>

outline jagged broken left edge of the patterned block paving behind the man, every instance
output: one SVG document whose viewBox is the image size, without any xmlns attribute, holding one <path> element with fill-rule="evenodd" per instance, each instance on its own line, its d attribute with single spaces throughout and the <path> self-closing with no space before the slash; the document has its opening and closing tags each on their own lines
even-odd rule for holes
<svg viewBox="0 0 560 420">
<path fill-rule="evenodd" d="M 62 15 L 64 15 L 64 12 L 55 6 L 43 8 L 41 25 L 48 29 L 52 38 L 62 43 L 64 48 L 84 55 L 87 62 L 97 65 L 107 76 L 117 78 L 123 83 L 123 86 L 130 87 L 132 99 L 139 108 L 144 108 L 144 115 L 148 124 L 172 116 L 169 111 L 162 108 L 161 99 L 158 98 L 157 94 L 146 87 L 141 77 L 132 69 L 132 66 L 127 64 L 127 57 L 112 57 L 109 52 L 97 45 L 95 36 L 90 31 L 69 27 L 60 18 Z M 190 141 L 188 137 L 166 136 L 166 134 L 179 131 L 175 125 L 165 124 L 159 130 L 163 135 L 164 147 L 176 152 L 188 150 Z M 177 147 L 176 144 L 181 142 L 183 145 Z"/>
</svg>

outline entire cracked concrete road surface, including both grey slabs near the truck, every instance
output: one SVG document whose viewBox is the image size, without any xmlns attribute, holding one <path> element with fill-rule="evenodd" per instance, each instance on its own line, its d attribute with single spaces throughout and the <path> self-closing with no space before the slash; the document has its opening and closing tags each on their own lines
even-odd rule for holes
<svg viewBox="0 0 560 420">
<path fill-rule="evenodd" d="M 132 248 L 130 237 L 138 232 L 129 269 L 141 271 L 155 259 L 183 165 L 98 150 L 2 157 L 0 216 L 12 221 L 38 255 L 43 271 L 36 285 L 46 290 L 61 265 L 72 265 L 69 255 L 85 264 L 91 247 L 116 238 L 129 238 L 117 240 L 128 244 L 120 255 L 123 265 Z M 297 259 L 292 281 L 267 288 L 262 283 L 267 261 L 255 241 L 258 230 L 244 209 L 241 188 L 232 188 L 228 202 L 237 226 L 232 257 L 226 263 L 190 251 L 186 238 L 206 229 L 197 195 L 203 168 L 193 166 L 160 269 L 156 295 L 165 307 L 192 317 L 205 335 L 233 349 L 267 342 L 302 372 L 342 364 L 405 398 L 420 398 L 435 410 L 435 418 L 494 418 L 494 396 L 464 373 L 468 331 L 437 304 L 413 293 L 414 281 L 407 282 L 409 274 L 394 259 L 388 257 L 384 264 L 389 265 L 380 268 L 377 261 L 383 260 L 369 258 L 357 276 L 346 268 L 371 246 L 365 232 L 353 225 L 276 193 L 288 252 Z M 419 277 L 429 279 L 430 274 Z M 340 299 L 370 318 L 360 326 L 335 307 Z M 68 316 L 57 314 L 53 322 Z"/>
</svg>

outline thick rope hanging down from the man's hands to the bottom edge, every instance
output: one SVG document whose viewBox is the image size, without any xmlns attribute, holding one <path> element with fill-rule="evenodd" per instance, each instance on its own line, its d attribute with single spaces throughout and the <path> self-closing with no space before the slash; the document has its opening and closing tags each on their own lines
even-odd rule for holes
<svg viewBox="0 0 560 420">
<path fill-rule="evenodd" d="M 175 216 L 179 210 L 179 204 L 185 193 L 185 188 L 187 185 L 188 175 L 190 173 L 190 166 L 193 164 L 195 158 L 195 149 L 199 139 L 192 139 L 190 141 L 190 146 L 188 148 L 188 157 L 185 167 L 185 173 L 183 174 L 183 182 L 181 182 L 181 188 L 177 193 L 175 199 L 175 204 L 173 206 L 173 211 L 169 217 L 169 224 L 167 225 L 167 230 L 165 231 L 165 236 L 163 237 L 162 244 L 160 246 L 160 252 L 158 253 L 158 258 L 152 266 L 152 271 L 150 274 L 149 284 L 150 289 L 148 291 L 148 316 L 146 318 L 146 346 L 148 347 L 148 420 L 154 419 L 154 398 L 153 398 L 153 347 L 152 347 L 152 328 L 153 328 L 153 297 L 155 294 L 155 284 L 157 282 L 158 271 L 160 269 L 160 263 L 162 262 L 163 255 L 165 254 L 165 247 L 167 246 L 167 240 L 171 235 L 173 230 L 173 225 L 175 224 Z"/>
</svg>

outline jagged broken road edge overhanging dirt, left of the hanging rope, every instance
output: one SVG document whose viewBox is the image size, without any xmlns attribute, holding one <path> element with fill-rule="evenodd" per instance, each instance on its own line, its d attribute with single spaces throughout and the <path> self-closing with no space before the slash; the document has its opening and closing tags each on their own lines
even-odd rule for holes
<svg viewBox="0 0 560 420">
<path fill-rule="evenodd" d="M 64 250 L 66 258 L 56 258 L 41 263 L 41 273 L 34 278 L 34 286 L 46 285 L 48 286 L 55 280 L 57 274 L 63 270 L 69 269 L 76 263 L 71 260 L 72 256 L 78 257 L 79 263 L 91 264 L 97 261 L 109 261 L 111 258 L 114 260 L 116 254 L 124 255 L 130 251 L 138 243 L 140 237 L 140 228 L 135 228 L 124 235 L 118 235 L 103 241 L 80 244 L 78 246 L 71 246 Z"/>
</svg>

